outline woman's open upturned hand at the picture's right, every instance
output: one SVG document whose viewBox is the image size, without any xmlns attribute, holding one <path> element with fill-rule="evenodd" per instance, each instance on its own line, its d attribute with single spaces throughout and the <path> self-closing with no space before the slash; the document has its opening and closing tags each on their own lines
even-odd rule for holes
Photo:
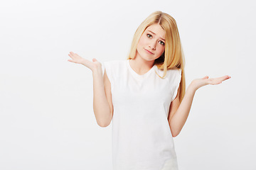
<svg viewBox="0 0 256 170">
<path fill-rule="evenodd" d="M 208 84 L 212 84 L 212 85 L 221 84 L 222 81 L 230 79 L 231 77 L 226 75 L 226 76 L 223 76 L 223 77 L 210 78 L 210 79 L 208 79 L 208 78 L 209 77 L 206 76 L 206 77 L 203 77 L 202 79 L 193 79 L 193 81 L 191 82 L 191 86 L 193 86 L 193 88 L 195 88 L 197 90 L 200 87 L 206 86 Z"/>
</svg>

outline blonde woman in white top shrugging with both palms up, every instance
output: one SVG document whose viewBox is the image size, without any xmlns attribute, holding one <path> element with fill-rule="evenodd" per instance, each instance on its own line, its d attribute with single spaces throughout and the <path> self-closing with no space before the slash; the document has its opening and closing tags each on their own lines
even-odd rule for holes
<svg viewBox="0 0 256 170">
<path fill-rule="evenodd" d="M 230 77 L 194 79 L 186 89 L 176 21 L 151 13 L 137 28 L 127 60 L 92 62 L 74 52 L 74 62 L 92 70 L 97 124 L 112 122 L 114 170 L 176 170 L 173 137 L 183 128 L 196 90 Z M 185 93 L 186 92 L 186 93 Z"/>
</svg>

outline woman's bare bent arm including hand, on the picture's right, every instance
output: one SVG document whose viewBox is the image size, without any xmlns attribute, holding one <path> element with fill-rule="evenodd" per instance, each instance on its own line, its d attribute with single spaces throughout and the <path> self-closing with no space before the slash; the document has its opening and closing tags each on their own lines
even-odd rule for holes
<svg viewBox="0 0 256 170">
<path fill-rule="evenodd" d="M 170 113 L 172 112 L 173 113 L 175 112 L 175 113 L 170 115 L 170 118 L 169 118 L 171 133 L 173 137 L 176 137 L 181 132 L 183 125 L 186 123 L 186 120 L 188 118 L 188 113 L 191 109 L 193 96 L 195 95 L 196 90 L 208 84 L 221 84 L 222 81 L 225 81 L 226 79 L 230 79 L 230 78 L 231 77 L 229 76 L 224 76 L 224 77 L 218 77 L 214 79 L 208 79 L 208 76 L 206 76 L 206 77 L 203 77 L 203 79 L 194 79 L 191 82 L 191 84 L 189 84 L 188 89 L 186 90 L 186 94 L 184 95 L 181 103 L 178 102 L 179 95 L 177 95 L 176 99 L 174 99 L 174 101 L 172 101 L 171 103 L 171 104 L 174 104 L 174 106 L 171 106 L 172 109 L 170 109 Z"/>
</svg>

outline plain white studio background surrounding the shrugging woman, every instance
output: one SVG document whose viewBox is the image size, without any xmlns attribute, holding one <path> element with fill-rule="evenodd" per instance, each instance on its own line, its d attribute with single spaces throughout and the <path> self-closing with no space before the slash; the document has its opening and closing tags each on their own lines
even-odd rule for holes
<svg viewBox="0 0 256 170">
<path fill-rule="evenodd" d="M 174 137 L 180 170 L 256 169 L 254 1 L 1 1 L 0 169 L 112 169 L 112 124 L 92 108 L 92 72 L 70 51 L 125 60 L 154 11 L 176 19 L 186 85 L 196 91 Z M 103 67 L 103 66 L 102 66 Z"/>
</svg>

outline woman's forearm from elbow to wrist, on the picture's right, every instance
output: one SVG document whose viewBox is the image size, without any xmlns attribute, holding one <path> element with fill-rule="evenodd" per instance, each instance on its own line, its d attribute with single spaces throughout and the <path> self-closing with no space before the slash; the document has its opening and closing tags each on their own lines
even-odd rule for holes
<svg viewBox="0 0 256 170">
<path fill-rule="evenodd" d="M 184 95 L 180 106 L 171 118 L 170 127 L 172 135 L 174 137 L 176 137 L 181 132 L 183 125 L 186 123 L 195 93 L 196 88 L 194 88 L 193 85 L 190 84 L 188 86 L 188 89 L 186 90 L 186 94 Z"/>
</svg>

